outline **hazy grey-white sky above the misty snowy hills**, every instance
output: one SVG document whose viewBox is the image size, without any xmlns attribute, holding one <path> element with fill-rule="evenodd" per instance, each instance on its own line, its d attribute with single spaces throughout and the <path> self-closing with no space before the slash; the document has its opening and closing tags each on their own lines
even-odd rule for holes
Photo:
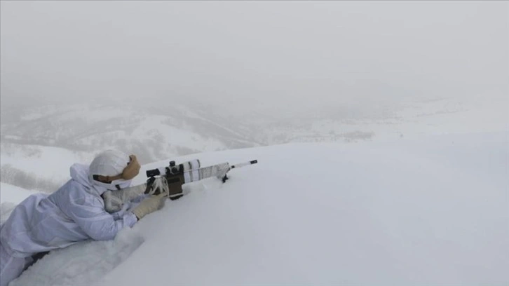
<svg viewBox="0 0 509 286">
<path fill-rule="evenodd" d="M 1 1 L 1 103 L 508 97 L 503 1 Z M 4 106 L 5 107 L 5 106 Z"/>
</svg>

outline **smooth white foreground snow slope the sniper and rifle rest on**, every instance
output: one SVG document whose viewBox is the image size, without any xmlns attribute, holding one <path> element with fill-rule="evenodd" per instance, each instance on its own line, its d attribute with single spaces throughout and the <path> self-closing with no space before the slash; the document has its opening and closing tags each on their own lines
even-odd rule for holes
<svg viewBox="0 0 509 286">
<path fill-rule="evenodd" d="M 509 283 L 509 132 L 189 158 L 259 163 L 186 185 L 115 240 L 52 252 L 11 286 Z"/>
</svg>

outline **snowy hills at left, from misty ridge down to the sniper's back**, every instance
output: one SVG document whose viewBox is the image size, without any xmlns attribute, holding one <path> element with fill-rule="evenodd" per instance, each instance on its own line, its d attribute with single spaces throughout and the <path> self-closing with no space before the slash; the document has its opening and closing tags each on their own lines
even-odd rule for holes
<svg viewBox="0 0 509 286">
<path fill-rule="evenodd" d="M 202 151 L 260 144 L 179 104 L 53 104 L 2 111 L 1 182 L 55 191 L 73 162 L 89 163 L 104 149 L 136 154 L 142 163 Z M 50 168 L 46 168 L 50 164 Z"/>
</svg>

